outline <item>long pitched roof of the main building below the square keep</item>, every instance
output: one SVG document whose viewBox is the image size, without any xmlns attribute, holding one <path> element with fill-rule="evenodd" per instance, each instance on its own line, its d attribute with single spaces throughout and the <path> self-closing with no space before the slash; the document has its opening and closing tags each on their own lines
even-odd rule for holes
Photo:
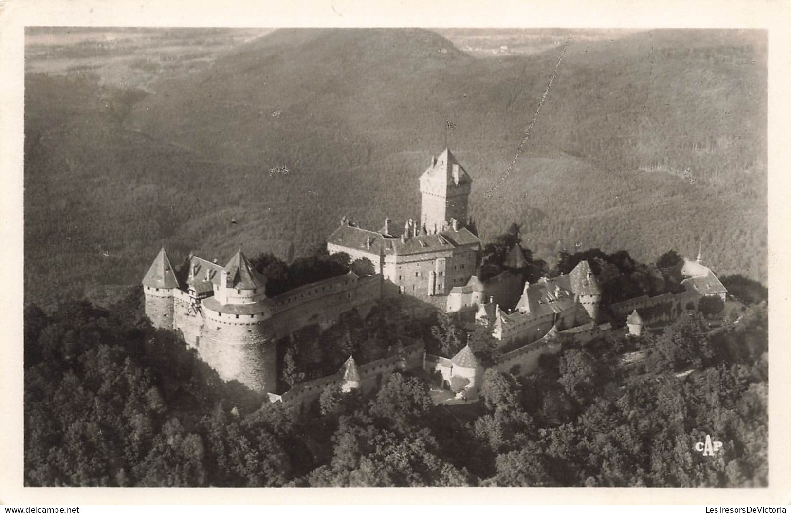
<svg viewBox="0 0 791 514">
<path fill-rule="evenodd" d="M 402 241 L 400 238 L 388 238 L 379 232 L 343 224 L 332 232 L 327 238 L 327 243 L 378 256 L 447 251 L 460 246 L 479 245 L 481 240 L 464 227 L 458 230 L 448 229 L 436 234 L 406 237 Z"/>
</svg>

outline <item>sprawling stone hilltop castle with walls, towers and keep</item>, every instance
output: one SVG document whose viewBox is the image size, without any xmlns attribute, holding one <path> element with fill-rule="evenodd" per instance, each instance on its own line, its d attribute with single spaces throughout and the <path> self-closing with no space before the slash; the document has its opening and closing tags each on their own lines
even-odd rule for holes
<svg viewBox="0 0 791 514">
<path fill-rule="evenodd" d="M 373 387 L 397 368 L 437 372 L 447 386 L 458 376 L 466 380 L 467 393 L 475 394 L 483 368 L 469 346 L 448 359 L 426 354 L 420 342 L 361 366 L 350 357 L 336 375 L 275 394 L 279 338 L 312 324 L 327 328 L 346 312 L 365 318 L 377 300 L 390 294 L 418 297 L 460 319 L 488 324 L 494 338 L 511 349 L 494 365 L 507 372 L 534 372 L 539 357 L 559 352 L 564 339 L 585 341 L 611 330 L 611 323 L 600 323 L 602 292 L 587 261 L 568 274 L 529 284 L 519 272 L 527 261 L 515 245 L 506 255 L 505 271 L 487 281 L 476 276 L 482 246 L 467 214 L 472 180 L 449 149 L 431 157 L 419 183 L 418 221 L 402 225 L 385 218 L 373 231 L 344 217 L 328 237 L 327 251 L 369 263 L 370 276 L 350 271 L 267 297 L 266 278 L 241 251 L 225 266 L 190 255 L 187 276 L 180 279 L 163 248 L 142 281 L 146 314 L 155 327 L 182 334 L 223 380 L 238 380 L 271 401 L 300 405 L 329 384 L 344 390 Z M 677 272 L 682 293 L 638 297 L 611 304 L 609 311 L 623 317 L 630 333 L 640 334 L 644 324 L 697 308 L 702 297 L 725 300 L 725 288 L 702 265 L 699 253 L 696 261 L 680 263 Z M 501 308 L 506 304 L 508 309 Z"/>
</svg>

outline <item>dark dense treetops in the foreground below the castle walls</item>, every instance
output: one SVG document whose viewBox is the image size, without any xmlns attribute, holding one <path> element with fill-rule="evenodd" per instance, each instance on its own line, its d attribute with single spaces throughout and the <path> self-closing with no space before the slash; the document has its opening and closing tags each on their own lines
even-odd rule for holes
<svg viewBox="0 0 791 514">
<path fill-rule="evenodd" d="M 489 368 L 479 402 L 435 406 L 425 374 L 395 372 L 368 395 L 327 387 L 301 413 L 223 382 L 153 329 L 139 287 L 108 308 L 29 304 L 25 485 L 765 486 L 766 296 L 732 283 L 744 304 L 717 323 L 689 312 L 657 333 L 566 343 L 528 377 Z M 485 365 L 497 357 L 486 327 L 404 307 L 384 300 L 368 319 L 278 343 L 292 359 L 280 380 L 418 338 L 433 353 L 468 342 Z M 706 434 L 723 442 L 713 457 L 693 449 Z"/>
</svg>

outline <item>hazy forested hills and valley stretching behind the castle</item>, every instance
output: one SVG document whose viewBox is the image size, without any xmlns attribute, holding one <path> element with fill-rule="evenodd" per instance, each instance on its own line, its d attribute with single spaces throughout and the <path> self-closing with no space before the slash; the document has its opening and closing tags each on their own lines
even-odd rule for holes
<svg viewBox="0 0 791 514">
<path fill-rule="evenodd" d="M 106 305 L 162 244 L 176 260 L 241 245 L 288 261 L 343 215 L 374 229 L 417 217 L 445 119 L 486 242 L 517 221 L 554 265 L 577 248 L 692 255 L 702 238 L 719 273 L 766 285 L 765 34 L 572 40 L 486 196 L 557 52 L 483 59 L 426 30 L 278 30 L 146 91 L 28 74 L 25 296 Z"/>
</svg>

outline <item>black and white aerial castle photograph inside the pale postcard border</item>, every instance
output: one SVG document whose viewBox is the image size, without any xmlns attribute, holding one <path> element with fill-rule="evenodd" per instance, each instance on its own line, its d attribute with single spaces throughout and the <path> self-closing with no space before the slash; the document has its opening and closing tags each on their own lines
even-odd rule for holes
<svg viewBox="0 0 791 514">
<path fill-rule="evenodd" d="M 770 31 L 420 25 L 24 27 L 22 486 L 770 486 Z"/>
</svg>

